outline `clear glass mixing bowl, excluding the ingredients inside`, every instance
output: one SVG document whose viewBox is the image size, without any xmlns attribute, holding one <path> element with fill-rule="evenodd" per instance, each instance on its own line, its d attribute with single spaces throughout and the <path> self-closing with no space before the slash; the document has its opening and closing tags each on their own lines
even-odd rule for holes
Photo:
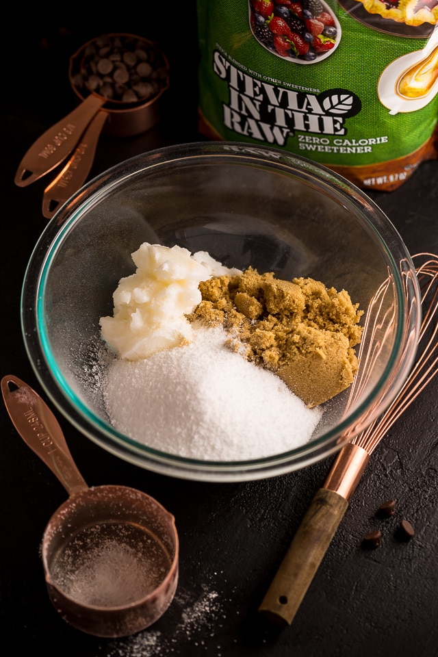
<svg viewBox="0 0 438 657">
<path fill-rule="evenodd" d="M 310 276 L 359 302 L 368 318 L 359 372 L 350 389 L 324 404 L 308 443 L 254 461 L 198 461 L 148 448 L 112 426 L 99 318 L 112 314 L 112 294 L 134 272 L 131 253 L 142 242 L 206 250 L 226 266 L 281 279 Z M 31 255 L 21 313 L 36 376 L 81 433 L 155 472 L 239 481 L 318 461 L 380 415 L 411 368 L 421 304 L 400 235 L 346 179 L 278 149 L 200 142 L 133 157 L 70 198 Z"/>
</svg>

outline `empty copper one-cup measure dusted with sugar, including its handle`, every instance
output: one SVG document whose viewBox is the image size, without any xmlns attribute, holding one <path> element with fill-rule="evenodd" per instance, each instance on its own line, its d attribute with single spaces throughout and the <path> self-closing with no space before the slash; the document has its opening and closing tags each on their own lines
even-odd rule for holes
<svg viewBox="0 0 438 657">
<path fill-rule="evenodd" d="M 2 378 L 1 391 L 16 430 L 70 495 L 49 519 L 41 544 L 56 610 L 95 636 L 127 636 L 151 626 L 177 589 L 175 518 L 142 491 L 89 488 L 36 391 L 12 375 Z"/>
</svg>

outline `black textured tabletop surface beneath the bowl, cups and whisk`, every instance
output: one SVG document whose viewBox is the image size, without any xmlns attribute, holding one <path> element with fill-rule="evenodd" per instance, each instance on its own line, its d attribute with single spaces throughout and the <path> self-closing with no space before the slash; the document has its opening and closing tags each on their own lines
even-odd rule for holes
<svg viewBox="0 0 438 657">
<path fill-rule="evenodd" d="M 120 11 L 112 20 L 107 16 L 96 23 L 85 20 L 84 12 L 79 14 L 81 20 L 65 21 L 59 16 L 50 21 L 38 13 L 10 23 L 11 33 L 3 42 L 1 376 L 16 374 L 37 391 L 21 338 L 19 299 L 27 261 L 46 224 L 40 204 L 47 182 L 17 188 L 16 168 L 29 145 L 73 106 L 66 76 L 68 56 L 105 31 L 151 36 L 157 30 L 163 49 L 172 55 L 172 87 L 157 129 L 127 140 L 101 138 L 91 175 L 162 144 L 198 139 L 196 41 L 184 34 L 179 44 L 175 42 L 180 23 L 171 5 L 167 7 L 172 13 L 167 30 L 158 21 L 143 25 L 136 15 L 123 21 Z M 76 14 L 77 8 L 73 9 Z M 188 14 L 190 23 L 193 11 Z M 23 22 L 25 27 L 20 27 Z M 425 162 L 399 190 L 370 194 L 412 254 L 438 253 L 437 181 L 438 162 Z M 57 415 L 88 482 L 142 489 L 177 518 L 181 571 L 175 601 L 151 630 L 118 641 L 78 632 L 60 619 L 49 602 L 38 549 L 44 527 L 66 493 L 18 437 L 1 404 L 3 643 L 12 654 L 49 657 L 434 657 L 438 654 L 437 384 L 438 379 L 372 455 L 294 623 L 281 631 L 261 622 L 257 606 L 331 459 L 256 482 L 175 480 L 119 461 Z M 378 507 L 390 498 L 396 499 L 394 516 L 376 517 Z M 396 535 L 403 518 L 415 529 L 415 536 L 405 542 Z M 381 546 L 363 550 L 363 537 L 377 529 L 382 532 Z"/>
</svg>

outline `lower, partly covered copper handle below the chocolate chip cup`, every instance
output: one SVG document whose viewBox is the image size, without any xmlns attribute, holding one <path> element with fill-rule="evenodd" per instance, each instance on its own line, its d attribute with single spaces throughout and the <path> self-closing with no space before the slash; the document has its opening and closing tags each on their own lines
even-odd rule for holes
<svg viewBox="0 0 438 657">
<path fill-rule="evenodd" d="M 99 136 L 107 120 L 108 113 L 99 110 L 83 133 L 76 150 L 66 166 L 44 190 L 42 214 L 51 219 L 58 207 L 82 187 L 90 172 Z"/>
</svg>

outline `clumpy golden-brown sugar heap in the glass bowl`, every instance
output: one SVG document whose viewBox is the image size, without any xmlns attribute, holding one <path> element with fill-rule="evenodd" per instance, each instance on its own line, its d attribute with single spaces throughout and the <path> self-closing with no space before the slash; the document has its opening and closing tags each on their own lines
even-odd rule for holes
<svg viewBox="0 0 438 657">
<path fill-rule="evenodd" d="M 275 372 L 308 407 L 352 383 L 363 311 L 346 290 L 253 268 L 208 279 L 199 289 L 203 300 L 189 320 L 223 326 L 230 348 Z"/>
</svg>

